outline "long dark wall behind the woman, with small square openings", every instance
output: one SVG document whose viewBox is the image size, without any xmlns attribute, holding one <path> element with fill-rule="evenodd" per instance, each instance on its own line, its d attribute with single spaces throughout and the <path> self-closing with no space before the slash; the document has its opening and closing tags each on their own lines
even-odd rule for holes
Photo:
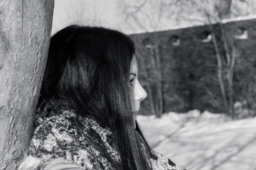
<svg viewBox="0 0 256 170">
<path fill-rule="evenodd" d="M 255 109 L 256 19 L 233 21 L 224 26 L 230 42 L 235 35 L 247 31 L 248 38 L 235 40 L 235 101 L 246 101 L 248 108 Z M 220 27 L 215 24 L 213 28 L 221 58 L 225 62 Z M 215 50 L 209 35 L 208 26 L 130 35 L 137 45 L 139 79 L 146 91 L 156 79 L 154 57 L 160 57 L 164 112 L 191 109 L 225 112 L 218 84 Z M 225 77 L 225 71 L 223 75 Z M 141 113 L 146 115 L 151 115 L 151 101 L 156 100 L 154 88 L 149 92 L 148 98 L 142 102 Z"/>
</svg>

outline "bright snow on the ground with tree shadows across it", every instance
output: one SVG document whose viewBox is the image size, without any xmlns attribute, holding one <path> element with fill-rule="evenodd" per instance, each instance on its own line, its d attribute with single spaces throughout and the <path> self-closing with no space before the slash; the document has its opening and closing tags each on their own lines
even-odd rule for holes
<svg viewBox="0 0 256 170">
<path fill-rule="evenodd" d="M 190 111 L 138 115 L 149 145 L 188 170 L 256 170 L 256 118 Z"/>
</svg>

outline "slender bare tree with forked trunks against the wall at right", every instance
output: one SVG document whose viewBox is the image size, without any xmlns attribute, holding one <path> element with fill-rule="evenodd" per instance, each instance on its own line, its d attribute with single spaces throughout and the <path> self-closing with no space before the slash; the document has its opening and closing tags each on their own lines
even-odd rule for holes
<svg viewBox="0 0 256 170">
<path fill-rule="evenodd" d="M 187 1 L 188 2 L 188 1 Z M 230 18 L 231 16 L 231 4 L 232 0 L 217 0 L 217 1 L 189 1 L 193 9 L 200 13 L 203 18 L 206 18 L 206 25 L 210 28 L 212 36 L 212 42 L 215 50 L 215 57 L 218 63 L 218 82 L 220 91 L 223 96 L 223 103 L 225 105 L 228 114 L 234 117 L 234 89 L 233 89 L 233 77 L 235 72 L 235 58 L 236 58 L 236 47 L 235 38 L 228 37 L 227 30 L 223 24 L 223 19 Z M 216 41 L 215 28 L 213 24 L 218 23 L 220 28 L 220 37 L 223 41 L 221 46 L 224 49 L 225 60 L 222 60 L 220 54 L 220 46 Z M 232 35 L 231 35 L 232 36 Z M 225 76 L 225 77 L 223 77 Z M 225 79 L 227 80 L 227 86 L 225 86 Z"/>
</svg>

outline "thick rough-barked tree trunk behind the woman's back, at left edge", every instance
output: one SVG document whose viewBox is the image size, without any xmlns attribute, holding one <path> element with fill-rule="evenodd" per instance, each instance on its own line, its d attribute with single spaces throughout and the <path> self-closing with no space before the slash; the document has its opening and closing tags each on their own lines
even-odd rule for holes
<svg viewBox="0 0 256 170">
<path fill-rule="evenodd" d="M 46 67 L 52 0 L 0 1 L 0 169 L 28 153 Z"/>
</svg>

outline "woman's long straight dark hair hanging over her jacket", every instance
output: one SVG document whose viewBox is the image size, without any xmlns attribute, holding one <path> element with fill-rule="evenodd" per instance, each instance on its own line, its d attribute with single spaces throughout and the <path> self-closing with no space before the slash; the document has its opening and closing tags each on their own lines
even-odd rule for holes
<svg viewBox="0 0 256 170">
<path fill-rule="evenodd" d="M 121 165 L 111 162 L 116 169 L 148 170 L 148 145 L 142 149 L 143 141 L 133 128 L 129 99 L 134 52 L 134 42 L 117 30 L 64 28 L 50 40 L 41 98 L 56 107 L 68 106 L 79 115 L 90 115 L 110 128 L 122 161 Z"/>
</svg>

